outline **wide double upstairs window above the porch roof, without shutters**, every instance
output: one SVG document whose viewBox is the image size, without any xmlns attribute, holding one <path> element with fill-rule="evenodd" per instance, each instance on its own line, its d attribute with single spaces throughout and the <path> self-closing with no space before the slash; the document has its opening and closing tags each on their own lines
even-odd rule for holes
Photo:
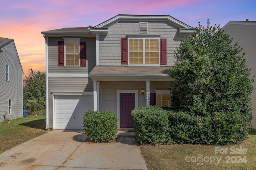
<svg viewBox="0 0 256 170">
<path fill-rule="evenodd" d="M 159 39 L 130 38 L 129 64 L 159 64 Z"/>
</svg>

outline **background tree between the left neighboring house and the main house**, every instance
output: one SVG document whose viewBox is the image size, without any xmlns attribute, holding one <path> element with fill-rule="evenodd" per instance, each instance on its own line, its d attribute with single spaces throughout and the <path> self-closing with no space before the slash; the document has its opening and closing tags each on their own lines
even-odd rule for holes
<svg viewBox="0 0 256 170">
<path fill-rule="evenodd" d="M 29 114 L 45 109 L 45 72 L 28 71 L 23 80 L 23 107 Z"/>
</svg>

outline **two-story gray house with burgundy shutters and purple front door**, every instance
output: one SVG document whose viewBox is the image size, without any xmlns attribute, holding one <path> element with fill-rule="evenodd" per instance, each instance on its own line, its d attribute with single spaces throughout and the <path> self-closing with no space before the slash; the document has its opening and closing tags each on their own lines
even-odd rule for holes
<svg viewBox="0 0 256 170">
<path fill-rule="evenodd" d="M 130 111 L 170 106 L 174 51 L 194 29 L 169 15 L 117 15 L 95 27 L 44 31 L 46 128 L 83 129 L 83 112 L 108 110 L 118 129 Z"/>
</svg>

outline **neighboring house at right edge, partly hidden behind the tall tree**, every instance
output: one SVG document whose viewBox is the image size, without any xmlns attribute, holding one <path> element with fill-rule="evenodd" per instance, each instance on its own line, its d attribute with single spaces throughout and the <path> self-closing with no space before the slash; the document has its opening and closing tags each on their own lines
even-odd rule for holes
<svg viewBox="0 0 256 170">
<path fill-rule="evenodd" d="M 246 65 L 251 69 L 250 78 L 256 76 L 256 21 L 230 21 L 223 28 L 230 38 L 232 45 L 238 42 L 245 53 Z M 256 88 L 256 82 L 252 84 Z M 252 92 L 252 121 L 250 127 L 256 129 L 256 91 Z"/>
</svg>

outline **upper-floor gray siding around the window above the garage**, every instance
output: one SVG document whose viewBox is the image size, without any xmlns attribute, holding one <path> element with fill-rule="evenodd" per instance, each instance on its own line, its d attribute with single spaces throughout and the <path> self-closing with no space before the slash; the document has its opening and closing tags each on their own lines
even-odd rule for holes
<svg viewBox="0 0 256 170">
<path fill-rule="evenodd" d="M 96 66 L 96 39 L 81 38 L 86 42 L 86 67 L 58 66 L 58 41 L 63 38 L 48 38 L 48 73 L 84 73 L 88 74 Z"/>
</svg>

